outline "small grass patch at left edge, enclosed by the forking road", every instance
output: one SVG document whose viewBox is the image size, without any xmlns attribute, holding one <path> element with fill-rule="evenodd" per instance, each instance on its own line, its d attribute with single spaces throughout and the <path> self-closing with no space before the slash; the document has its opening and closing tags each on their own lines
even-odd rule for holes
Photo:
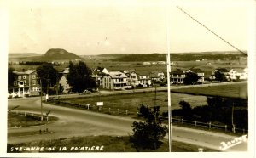
<svg viewBox="0 0 256 158">
<path fill-rule="evenodd" d="M 51 123 L 56 121 L 57 118 L 49 116 L 49 121 L 40 121 L 40 116 L 24 116 L 18 115 L 16 113 L 9 113 L 8 115 L 8 127 L 30 127 L 30 126 L 39 126 L 46 123 Z"/>
</svg>

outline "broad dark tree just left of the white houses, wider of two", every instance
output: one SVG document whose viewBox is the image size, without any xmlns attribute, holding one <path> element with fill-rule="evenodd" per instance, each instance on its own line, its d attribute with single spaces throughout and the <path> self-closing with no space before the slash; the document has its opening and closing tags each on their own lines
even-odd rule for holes
<svg viewBox="0 0 256 158">
<path fill-rule="evenodd" d="M 82 93 L 85 89 L 96 88 L 96 82 L 91 74 L 90 68 L 84 62 L 79 61 L 78 64 L 73 64 L 70 61 L 67 82 L 73 87 L 73 91 Z"/>
</svg>

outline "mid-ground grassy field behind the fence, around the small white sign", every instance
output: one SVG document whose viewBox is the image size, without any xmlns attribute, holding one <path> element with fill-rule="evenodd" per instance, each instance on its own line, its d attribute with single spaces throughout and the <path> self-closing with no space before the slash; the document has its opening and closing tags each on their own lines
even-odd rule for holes
<svg viewBox="0 0 256 158">
<path fill-rule="evenodd" d="M 74 98 L 65 99 L 70 103 L 75 104 L 96 104 L 97 101 L 102 101 L 104 103 L 103 107 L 111 110 L 129 110 L 129 112 L 136 113 L 137 108 L 140 104 L 154 106 L 154 101 L 156 105 L 160 105 L 160 111 L 167 110 L 167 93 L 158 92 L 156 93 L 126 93 L 119 95 L 109 95 L 109 96 L 99 96 L 96 97 L 84 97 L 84 98 Z M 187 101 L 192 107 L 198 105 L 207 104 L 207 98 L 205 96 L 194 96 L 182 93 L 172 93 L 172 109 L 179 108 L 180 101 Z"/>
</svg>

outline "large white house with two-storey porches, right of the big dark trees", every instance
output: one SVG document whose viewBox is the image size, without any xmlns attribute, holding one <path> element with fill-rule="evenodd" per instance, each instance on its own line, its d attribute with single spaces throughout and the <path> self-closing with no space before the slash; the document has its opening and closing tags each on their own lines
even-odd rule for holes
<svg viewBox="0 0 256 158">
<path fill-rule="evenodd" d="M 125 89 L 128 86 L 127 76 L 120 71 L 109 71 L 103 76 L 102 87 L 111 90 Z"/>
</svg>

